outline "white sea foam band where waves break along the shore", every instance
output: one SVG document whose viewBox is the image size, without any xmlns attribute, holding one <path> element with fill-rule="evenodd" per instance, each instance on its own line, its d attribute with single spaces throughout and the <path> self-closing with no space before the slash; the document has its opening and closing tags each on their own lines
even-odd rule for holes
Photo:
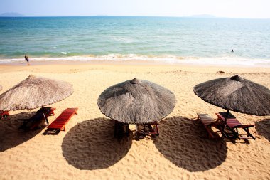
<svg viewBox="0 0 270 180">
<path fill-rule="evenodd" d="M 108 54 L 108 55 L 77 55 L 66 57 L 40 57 L 30 58 L 30 61 L 148 61 L 149 63 L 168 63 L 168 64 L 193 64 L 193 65 L 234 65 L 247 67 L 270 67 L 269 59 L 252 59 L 252 58 L 234 58 L 234 57 L 217 57 L 217 58 L 201 58 L 201 57 L 180 57 L 175 55 L 137 55 L 137 54 Z M 0 59 L 1 64 L 24 62 L 23 58 Z"/>
</svg>

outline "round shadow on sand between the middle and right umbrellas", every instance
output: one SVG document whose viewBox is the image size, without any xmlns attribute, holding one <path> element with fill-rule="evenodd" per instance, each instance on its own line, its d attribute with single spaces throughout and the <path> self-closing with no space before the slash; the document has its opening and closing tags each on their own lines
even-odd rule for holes
<svg viewBox="0 0 270 180">
<path fill-rule="evenodd" d="M 226 142 L 207 139 L 207 132 L 198 121 L 169 117 L 159 122 L 159 132 L 153 141 L 158 151 L 190 172 L 214 169 L 227 158 Z"/>
</svg>

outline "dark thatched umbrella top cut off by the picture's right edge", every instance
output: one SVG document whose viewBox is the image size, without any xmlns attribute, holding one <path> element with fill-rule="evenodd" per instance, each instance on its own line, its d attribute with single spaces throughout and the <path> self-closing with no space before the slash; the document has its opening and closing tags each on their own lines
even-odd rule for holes
<svg viewBox="0 0 270 180">
<path fill-rule="evenodd" d="M 202 100 L 227 110 L 249 115 L 270 115 L 270 90 L 239 75 L 195 85 Z"/>
</svg>

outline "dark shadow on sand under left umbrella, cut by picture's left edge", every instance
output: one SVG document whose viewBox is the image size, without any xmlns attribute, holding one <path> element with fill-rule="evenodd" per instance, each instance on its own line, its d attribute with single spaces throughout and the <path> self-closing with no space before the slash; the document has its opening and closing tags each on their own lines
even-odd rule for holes
<svg viewBox="0 0 270 180">
<path fill-rule="evenodd" d="M 35 112 L 21 112 L 16 115 L 9 115 L 9 117 L 4 117 L 0 120 L 0 152 L 23 144 L 23 142 L 27 142 L 44 129 L 45 126 L 28 132 L 19 129 L 23 122 L 18 119 L 31 117 L 34 113 Z M 44 122 L 41 122 L 41 124 L 42 123 L 44 124 Z"/>
</svg>

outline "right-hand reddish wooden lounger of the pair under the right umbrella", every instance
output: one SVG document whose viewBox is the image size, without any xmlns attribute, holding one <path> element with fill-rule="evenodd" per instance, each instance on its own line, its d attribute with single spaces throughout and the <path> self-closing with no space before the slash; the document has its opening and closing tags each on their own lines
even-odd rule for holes
<svg viewBox="0 0 270 180">
<path fill-rule="evenodd" d="M 234 115 L 227 112 L 216 113 L 217 119 L 225 122 L 225 127 L 223 127 L 222 132 L 227 138 L 232 139 L 256 139 L 250 132 L 249 127 L 254 127 L 254 125 L 242 125 Z M 239 129 L 243 129 L 246 134 L 239 134 Z"/>
</svg>

